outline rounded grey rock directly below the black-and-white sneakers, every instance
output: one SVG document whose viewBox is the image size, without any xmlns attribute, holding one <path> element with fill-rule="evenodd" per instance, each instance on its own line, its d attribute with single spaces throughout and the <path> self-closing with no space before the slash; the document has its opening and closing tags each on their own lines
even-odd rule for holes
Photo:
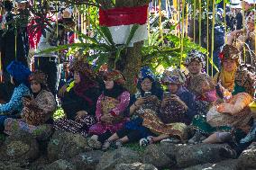
<svg viewBox="0 0 256 170">
<path fill-rule="evenodd" d="M 159 146 L 150 145 L 142 154 L 142 163 L 151 164 L 158 168 L 168 168 L 174 166 L 176 161 L 168 157 Z"/>
</svg>

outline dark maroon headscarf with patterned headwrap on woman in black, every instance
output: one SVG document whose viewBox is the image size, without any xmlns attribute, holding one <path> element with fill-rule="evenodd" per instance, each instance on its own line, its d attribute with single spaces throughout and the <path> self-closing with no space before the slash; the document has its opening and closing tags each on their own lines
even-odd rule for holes
<svg viewBox="0 0 256 170">
<path fill-rule="evenodd" d="M 95 74 L 90 65 L 82 60 L 74 61 L 70 68 L 71 71 L 77 71 L 80 76 L 80 83 L 74 85 L 74 92 L 79 97 L 82 97 L 89 105 L 93 105 L 93 101 L 87 97 L 85 92 L 92 87 L 98 87 L 95 81 Z"/>
</svg>

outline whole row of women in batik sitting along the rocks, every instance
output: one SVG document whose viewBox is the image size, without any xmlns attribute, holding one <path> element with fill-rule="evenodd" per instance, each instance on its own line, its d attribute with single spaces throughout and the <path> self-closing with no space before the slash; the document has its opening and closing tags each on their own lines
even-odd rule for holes
<svg viewBox="0 0 256 170">
<path fill-rule="evenodd" d="M 46 76 L 14 61 L 7 67 L 14 94 L 9 103 L 0 104 L 0 125 L 8 135 L 19 130 L 36 134 L 51 125 L 79 133 L 90 147 L 103 150 L 128 142 L 229 142 L 240 154 L 255 139 L 249 107 L 255 75 L 240 67 L 240 53 L 233 46 L 225 45 L 219 57 L 222 68 L 214 78 L 204 73 L 206 60 L 197 50 L 187 54 L 187 76 L 179 68 L 167 69 L 159 80 L 149 67 L 142 67 L 136 94 L 124 87 L 120 71 L 95 73 L 88 63 L 76 60 L 70 67 L 72 81 L 59 90 L 66 116 L 55 121 L 57 106 Z"/>
</svg>

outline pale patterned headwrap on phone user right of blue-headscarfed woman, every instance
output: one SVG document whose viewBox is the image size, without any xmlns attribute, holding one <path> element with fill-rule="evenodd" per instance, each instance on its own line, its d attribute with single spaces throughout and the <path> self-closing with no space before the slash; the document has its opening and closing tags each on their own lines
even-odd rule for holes
<svg viewBox="0 0 256 170">
<path fill-rule="evenodd" d="M 169 84 L 183 85 L 185 81 L 186 81 L 186 76 L 178 68 L 173 70 L 168 70 L 168 69 L 165 70 L 161 78 L 161 82 L 163 85 L 169 85 Z"/>
</svg>

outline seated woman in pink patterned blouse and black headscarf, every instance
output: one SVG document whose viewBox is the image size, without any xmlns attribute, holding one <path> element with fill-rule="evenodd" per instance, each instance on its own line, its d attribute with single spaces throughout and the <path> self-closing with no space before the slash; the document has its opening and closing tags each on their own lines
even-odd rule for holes
<svg viewBox="0 0 256 170">
<path fill-rule="evenodd" d="M 90 127 L 93 135 L 88 139 L 92 148 L 100 148 L 106 139 L 111 137 L 129 119 L 126 109 L 130 103 L 130 94 L 123 87 L 125 79 L 118 70 L 109 70 L 104 74 L 105 89 L 96 103 L 97 123 Z"/>
</svg>

